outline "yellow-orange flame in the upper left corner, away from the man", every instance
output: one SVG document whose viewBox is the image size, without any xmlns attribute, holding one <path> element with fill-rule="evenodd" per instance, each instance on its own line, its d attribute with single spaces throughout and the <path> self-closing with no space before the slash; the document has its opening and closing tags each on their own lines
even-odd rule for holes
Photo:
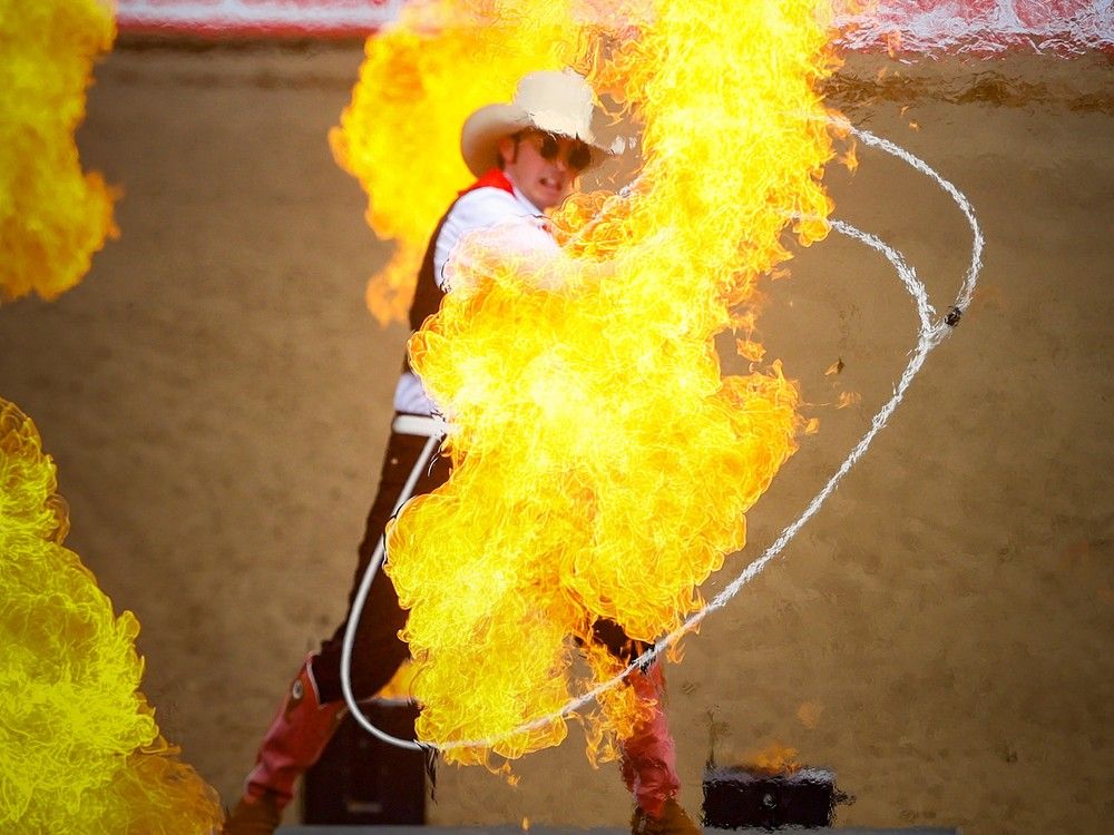
<svg viewBox="0 0 1114 835">
<path fill-rule="evenodd" d="M 100 0 L 0 0 L 0 302 L 55 298 L 115 235 L 114 194 L 81 173 L 74 130 L 116 23 Z"/>
</svg>

